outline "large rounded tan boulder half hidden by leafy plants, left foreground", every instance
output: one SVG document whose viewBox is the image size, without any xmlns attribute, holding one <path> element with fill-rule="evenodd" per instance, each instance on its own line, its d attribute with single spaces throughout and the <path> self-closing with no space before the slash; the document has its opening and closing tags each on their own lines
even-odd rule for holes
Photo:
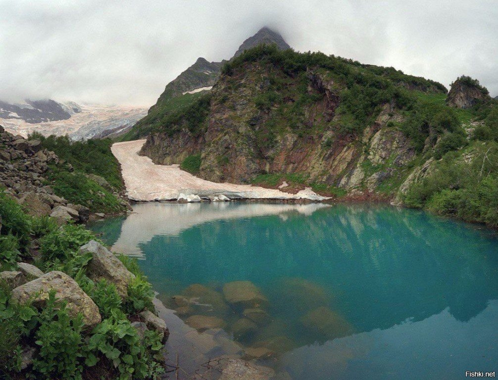
<svg viewBox="0 0 498 380">
<path fill-rule="evenodd" d="M 55 298 L 65 301 L 68 312 L 76 317 L 83 315 L 83 322 L 88 328 L 95 327 L 101 322 L 99 308 L 94 301 L 79 287 L 75 280 L 66 273 L 57 270 L 26 282 L 12 290 L 12 299 L 23 304 L 33 300 L 35 307 L 43 307 L 48 299 L 50 290 L 55 290 Z"/>
</svg>

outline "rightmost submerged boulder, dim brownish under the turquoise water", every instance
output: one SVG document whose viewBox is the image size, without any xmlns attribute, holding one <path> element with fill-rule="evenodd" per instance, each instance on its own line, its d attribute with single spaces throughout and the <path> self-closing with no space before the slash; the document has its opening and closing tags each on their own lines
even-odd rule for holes
<svg viewBox="0 0 498 380">
<path fill-rule="evenodd" d="M 326 339 L 344 337 L 353 332 L 351 324 L 342 316 L 323 306 L 306 314 L 301 321 L 304 327 L 318 331 Z"/>
</svg>

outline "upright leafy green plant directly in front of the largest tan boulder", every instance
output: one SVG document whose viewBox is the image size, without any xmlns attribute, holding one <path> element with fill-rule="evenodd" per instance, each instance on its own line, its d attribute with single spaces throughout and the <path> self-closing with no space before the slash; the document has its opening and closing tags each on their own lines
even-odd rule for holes
<svg viewBox="0 0 498 380">
<path fill-rule="evenodd" d="M 71 318 L 65 304 L 55 299 L 55 290 L 52 290 L 39 321 L 35 343 L 40 352 L 33 361 L 33 371 L 43 379 L 81 379 L 83 317 Z"/>
</svg>

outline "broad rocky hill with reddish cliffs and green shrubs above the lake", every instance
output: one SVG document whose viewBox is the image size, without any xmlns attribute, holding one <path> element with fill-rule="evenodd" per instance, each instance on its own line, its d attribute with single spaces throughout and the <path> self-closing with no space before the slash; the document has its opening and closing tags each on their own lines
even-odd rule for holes
<svg viewBox="0 0 498 380">
<path fill-rule="evenodd" d="M 197 175 L 215 182 L 276 176 L 324 193 L 389 198 L 437 143 L 411 110 L 421 95 L 432 101 L 446 92 L 392 68 L 256 47 L 224 67 L 210 94 L 150 134 L 141 154 L 160 164 L 200 155 Z"/>
</svg>

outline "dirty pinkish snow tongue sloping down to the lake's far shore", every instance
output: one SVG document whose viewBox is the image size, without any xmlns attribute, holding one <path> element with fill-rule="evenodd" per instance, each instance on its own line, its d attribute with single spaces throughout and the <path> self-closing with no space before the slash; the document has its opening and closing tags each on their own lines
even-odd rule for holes
<svg viewBox="0 0 498 380">
<path fill-rule="evenodd" d="M 121 163 L 128 197 L 135 201 L 186 200 L 198 202 L 200 198 L 228 199 L 327 199 L 315 194 L 311 188 L 297 194 L 265 189 L 251 185 L 216 183 L 197 178 L 183 171 L 179 165 L 156 165 L 148 157 L 137 153 L 145 140 L 117 142 L 111 150 Z"/>
</svg>

